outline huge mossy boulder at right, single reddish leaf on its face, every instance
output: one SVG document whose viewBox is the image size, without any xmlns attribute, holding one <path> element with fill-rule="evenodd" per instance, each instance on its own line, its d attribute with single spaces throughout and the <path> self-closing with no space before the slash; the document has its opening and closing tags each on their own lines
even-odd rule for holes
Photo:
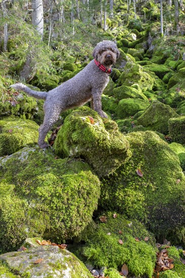
<svg viewBox="0 0 185 278">
<path fill-rule="evenodd" d="M 156 236 L 166 236 L 185 224 L 185 177 L 179 159 L 153 131 L 132 132 L 126 138 L 132 157 L 103 180 L 101 205 L 145 221 Z"/>
</svg>

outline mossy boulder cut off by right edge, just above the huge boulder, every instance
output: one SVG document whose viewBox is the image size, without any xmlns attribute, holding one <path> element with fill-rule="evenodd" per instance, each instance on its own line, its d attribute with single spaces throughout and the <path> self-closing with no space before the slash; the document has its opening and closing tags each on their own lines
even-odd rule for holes
<svg viewBox="0 0 185 278">
<path fill-rule="evenodd" d="M 185 116 L 169 119 L 168 128 L 170 137 L 174 142 L 185 144 Z"/>
</svg>

